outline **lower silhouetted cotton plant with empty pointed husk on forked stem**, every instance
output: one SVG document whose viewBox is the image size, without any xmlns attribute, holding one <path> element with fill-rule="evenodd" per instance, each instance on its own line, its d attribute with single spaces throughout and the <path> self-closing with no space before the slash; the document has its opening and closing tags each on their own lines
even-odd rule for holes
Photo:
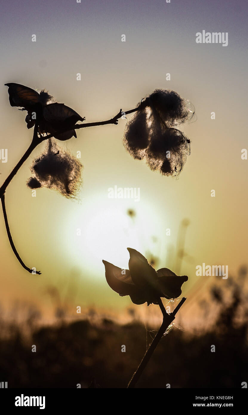
<svg viewBox="0 0 248 415">
<path fill-rule="evenodd" d="M 109 287 L 121 297 L 129 295 L 134 304 L 159 305 L 163 315 L 160 329 L 128 384 L 128 388 L 134 388 L 160 339 L 163 334 L 170 331 L 170 325 L 175 319 L 177 311 L 186 300 L 183 297 L 175 310 L 168 314 L 161 298 L 167 298 L 168 300 L 178 298 L 182 294 L 182 284 L 188 280 L 188 277 L 187 275 L 177 276 L 168 268 L 161 268 L 156 271 L 139 251 L 133 248 L 127 249 L 130 254 L 129 269 L 119 268 L 105 260 L 102 261 Z"/>
</svg>

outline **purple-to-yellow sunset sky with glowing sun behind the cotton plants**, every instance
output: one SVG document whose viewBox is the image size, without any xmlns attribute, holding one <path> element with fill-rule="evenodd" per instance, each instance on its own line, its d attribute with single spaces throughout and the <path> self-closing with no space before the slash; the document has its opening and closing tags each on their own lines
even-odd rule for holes
<svg viewBox="0 0 248 415">
<path fill-rule="evenodd" d="M 1 184 L 26 151 L 33 131 L 26 127 L 26 113 L 10 107 L 4 86 L 8 82 L 45 88 L 86 122 L 134 108 L 156 88 L 172 89 L 194 104 L 197 120 L 182 126 L 192 144 L 178 180 L 152 172 L 126 153 L 122 137 L 127 120 L 83 129 L 77 139 L 59 142 L 75 155 L 81 151 L 78 200 L 44 188 L 32 197 L 26 186 L 29 168 L 45 144 L 36 148 L 5 199 L 17 250 L 42 275 L 22 269 L 0 215 L 1 303 L 19 299 L 46 307 L 46 287 L 60 287 L 63 298 L 73 278 L 77 305 L 126 307 L 131 300 L 119 298 L 107 286 L 102 259 L 128 268 L 126 248 L 132 247 L 158 257 L 157 269 L 173 270 L 184 218 L 190 225 L 188 256 L 181 266 L 181 273 L 189 276 L 183 294 L 190 297 L 199 278 L 211 278 L 195 275 L 203 262 L 228 265 L 229 275 L 246 263 L 248 161 L 241 159 L 241 150 L 248 148 L 246 7 L 241 0 L 29 0 L 2 5 L 0 148 L 8 150 L 8 161 L 0 161 Z M 228 46 L 197 44 L 196 33 L 202 30 L 228 32 Z M 141 200 L 109 199 L 108 189 L 114 186 L 140 188 Z M 127 215 L 128 209 L 135 217 Z"/>
</svg>

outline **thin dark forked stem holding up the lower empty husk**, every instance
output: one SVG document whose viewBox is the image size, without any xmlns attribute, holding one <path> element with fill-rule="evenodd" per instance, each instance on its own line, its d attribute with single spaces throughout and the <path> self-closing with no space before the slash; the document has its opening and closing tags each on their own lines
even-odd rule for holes
<svg viewBox="0 0 248 415">
<path fill-rule="evenodd" d="M 161 327 L 158 330 L 156 336 L 154 337 L 153 341 L 151 342 L 150 347 L 148 347 L 148 349 L 146 350 L 146 353 L 145 353 L 143 359 L 141 360 L 141 363 L 140 363 L 138 369 L 136 370 L 136 372 L 134 372 L 134 375 L 131 378 L 131 381 L 129 382 L 127 388 L 134 388 L 134 386 L 138 382 L 143 370 L 145 369 L 146 365 L 148 364 L 148 361 L 150 360 L 150 358 L 151 358 L 154 350 L 156 349 L 160 339 L 162 338 L 165 330 L 170 325 L 170 323 L 173 322 L 173 320 L 175 319 L 175 315 L 176 315 L 177 311 L 183 305 L 185 300 L 186 300 L 186 298 L 183 297 L 182 300 L 180 301 L 180 303 L 175 308 L 175 310 L 170 314 L 168 314 L 165 311 L 165 308 L 163 306 L 161 298 L 158 300 L 158 305 L 160 307 L 160 310 L 163 313 L 163 322 L 162 322 Z"/>
</svg>

